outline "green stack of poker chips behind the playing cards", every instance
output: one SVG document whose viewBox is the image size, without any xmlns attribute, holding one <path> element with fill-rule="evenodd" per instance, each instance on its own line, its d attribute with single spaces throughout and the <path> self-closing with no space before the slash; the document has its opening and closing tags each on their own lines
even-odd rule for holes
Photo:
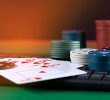
<svg viewBox="0 0 110 100">
<path fill-rule="evenodd" d="M 53 40 L 51 41 L 50 56 L 53 59 L 70 60 L 70 50 L 79 48 L 80 41 Z"/>
</svg>

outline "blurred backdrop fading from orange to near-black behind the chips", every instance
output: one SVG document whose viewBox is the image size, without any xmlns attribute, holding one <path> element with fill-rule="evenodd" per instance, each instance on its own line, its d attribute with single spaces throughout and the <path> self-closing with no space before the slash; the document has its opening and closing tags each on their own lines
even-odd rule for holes
<svg viewBox="0 0 110 100">
<path fill-rule="evenodd" d="M 110 0 L 0 0 L 0 39 L 59 39 L 74 29 L 95 39 L 97 19 L 110 19 Z"/>
</svg>

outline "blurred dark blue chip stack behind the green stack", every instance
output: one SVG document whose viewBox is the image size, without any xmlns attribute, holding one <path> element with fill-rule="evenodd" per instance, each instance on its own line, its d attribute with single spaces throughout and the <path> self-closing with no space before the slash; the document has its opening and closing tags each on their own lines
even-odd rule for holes
<svg viewBox="0 0 110 100">
<path fill-rule="evenodd" d="M 86 47 L 86 34 L 78 30 L 65 30 L 62 31 L 63 40 L 80 41 L 80 48 Z"/>
</svg>

